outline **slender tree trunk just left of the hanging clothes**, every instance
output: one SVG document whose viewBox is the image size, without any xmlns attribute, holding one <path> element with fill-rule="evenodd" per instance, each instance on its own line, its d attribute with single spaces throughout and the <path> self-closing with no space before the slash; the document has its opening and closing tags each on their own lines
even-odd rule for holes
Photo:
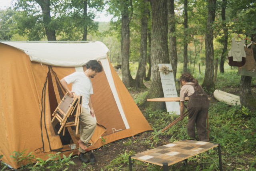
<svg viewBox="0 0 256 171">
<path fill-rule="evenodd" d="M 222 8 L 221 8 L 221 18 L 222 18 L 222 28 L 224 32 L 223 39 L 223 50 L 220 58 L 220 72 L 224 73 L 224 62 L 226 59 L 226 52 L 228 49 L 228 28 L 226 26 L 226 6 L 227 0 L 222 0 Z"/>
</svg>

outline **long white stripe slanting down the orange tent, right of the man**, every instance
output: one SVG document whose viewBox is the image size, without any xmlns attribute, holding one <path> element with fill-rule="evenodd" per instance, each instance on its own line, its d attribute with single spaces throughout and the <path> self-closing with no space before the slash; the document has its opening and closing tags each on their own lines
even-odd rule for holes
<svg viewBox="0 0 256 171">
<path fill-rule="evenodd" d="M 116 86 L 114 84 L 114 80 L 113 80 L 112 73 L 111 73 L 111 70 L 110 70 L 110 66 L 109 65 L 111 65 L 111 64 L 109 64 L 108 59 L 100 60 L 100 62 L 101 62 L 102 66 L 104 68 L 104 71 L 106 73 L 106 77 L 108 79 L 108 84 L 110 85 L 111 91 L 112 91 L 112 93 L 114 95 L 114 99 L 115 99 L 117 107 L 118 107 L 118 109 L 120 111 L 120 114 L 121 114 L 121 117 L 123 119 L 124 125 L 125 125 L 126 129 L 129 129 L 130 126 L 129 126 L 128 121 L 127 121 L 127 119 L 126 119 L 126 117 L 124 115 L 124 110 L 123 110 L 121 102 L 119 100 L 118 93 L 116 91 Z"/>
</svg>

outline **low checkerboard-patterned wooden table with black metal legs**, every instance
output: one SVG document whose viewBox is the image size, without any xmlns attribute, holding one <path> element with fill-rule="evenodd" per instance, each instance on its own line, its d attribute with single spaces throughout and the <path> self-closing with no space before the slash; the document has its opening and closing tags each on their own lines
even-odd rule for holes
<svg viewBox="0 0 256 171">
<path fill-rule="evenodd" d="M 130 155 L 130 171 L 132 171 L 132 159 L 160 165 L 163 166 L 164 171 L 168 171 L 169 165 L 179 161 L 187 161 L 189 157 L 200 154 L 214 147 L 218 147 L 220 171 L 222 171 L 220 144 L 192 140 L 176 141 L 148 151 L 143 151 L 136 155 Z"/>
</svg>

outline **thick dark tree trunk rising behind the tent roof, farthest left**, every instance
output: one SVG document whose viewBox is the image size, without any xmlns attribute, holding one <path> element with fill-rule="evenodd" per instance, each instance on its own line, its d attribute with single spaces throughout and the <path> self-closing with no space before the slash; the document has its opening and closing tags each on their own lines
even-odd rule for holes
<svg viewBox="0 0 256 171">
<path fill-rule="evenodd" d="M 43 22 L 48 41 L 56 41 L 56 35 L 54 28 L 51 28 L 51 15 L 50 15 L 50 0 L 36 0 L 36 2 L 42 8 Z"/>
</svg>

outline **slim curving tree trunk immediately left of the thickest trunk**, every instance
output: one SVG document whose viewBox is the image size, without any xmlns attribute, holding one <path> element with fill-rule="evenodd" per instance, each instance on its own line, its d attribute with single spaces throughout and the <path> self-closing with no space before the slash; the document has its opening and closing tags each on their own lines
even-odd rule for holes
<svg viewBox="0 0 256 171">
<path fill-rule="evenodd" d="M 141 34 L 140 34 L 140 61 L 135 78 L 136 87 L 146 87 L 143 83 L 143 78 L 146 71 L 147 58 L 147 37 L 148 37 L 148 0 L 143 0 L 141 10 Z"/>
</svg>

